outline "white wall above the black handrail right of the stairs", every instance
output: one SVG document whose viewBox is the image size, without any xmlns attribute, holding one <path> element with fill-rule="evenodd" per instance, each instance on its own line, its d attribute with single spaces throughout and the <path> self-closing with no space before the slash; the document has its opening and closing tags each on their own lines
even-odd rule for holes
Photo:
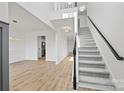
<svg viewBox="0 0 124 93">
<path fill-rule="evenodd" d="M 124 3 L 89 3 L 88 15 L 103 31 L 107 39 L 124 56 Z"/>
</svg>

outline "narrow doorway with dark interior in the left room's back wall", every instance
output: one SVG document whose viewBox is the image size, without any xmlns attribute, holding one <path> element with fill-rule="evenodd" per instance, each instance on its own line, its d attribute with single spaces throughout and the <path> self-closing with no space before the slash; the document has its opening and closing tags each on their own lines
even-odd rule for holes
<svg viewBox="0 0 124 93">
<path fill-rule="evenodd" d="M 46 58 L 46 37 L 38 36 L 38 59 Z"/>
</svg>

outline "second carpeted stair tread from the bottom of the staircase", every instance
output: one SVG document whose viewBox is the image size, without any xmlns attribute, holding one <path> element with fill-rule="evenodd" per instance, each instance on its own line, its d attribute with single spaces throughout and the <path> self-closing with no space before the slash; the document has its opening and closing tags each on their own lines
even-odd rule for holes
<svg viewBox="0 0 124 93">
<path fill-rule="evenodd" d="M 90 77 L 90 76 L 79 76 L 79 81 L 91 82 L 95 84 L 102 85 L 113 85 L 109 78 L 100 78 L 100 77 Z"/>
</svg>

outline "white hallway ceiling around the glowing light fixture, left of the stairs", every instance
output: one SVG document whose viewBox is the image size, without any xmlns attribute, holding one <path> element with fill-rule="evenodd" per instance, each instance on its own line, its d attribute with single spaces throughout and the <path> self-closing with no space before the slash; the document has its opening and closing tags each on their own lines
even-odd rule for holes
<svg viewBox="0 0 124 93">
<path fill-rule="evenodd" d="M 56 28 L 57 31 L 64 31 L 63 27 L 64 26 L 69 26 L 71 27 L 70 32 L 65 32 L 68 39 L 73 39 L 74 35 L 74 18 L 66 18 L 66 19 L 57 19 L 57 20 L 52 20 L 51 21 L 53 26 Z"/>
</svg>

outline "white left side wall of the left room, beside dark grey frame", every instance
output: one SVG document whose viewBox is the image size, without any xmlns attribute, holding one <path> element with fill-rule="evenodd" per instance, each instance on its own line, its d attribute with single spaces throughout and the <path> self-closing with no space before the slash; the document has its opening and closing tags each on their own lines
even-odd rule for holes
<svg viewBox="0 0 124 93">
<path fill-rule="evenodd" d="M 10 30 L 9 34 L 9 63 L 25 60 L 25 33 Z"/>
</svg>

